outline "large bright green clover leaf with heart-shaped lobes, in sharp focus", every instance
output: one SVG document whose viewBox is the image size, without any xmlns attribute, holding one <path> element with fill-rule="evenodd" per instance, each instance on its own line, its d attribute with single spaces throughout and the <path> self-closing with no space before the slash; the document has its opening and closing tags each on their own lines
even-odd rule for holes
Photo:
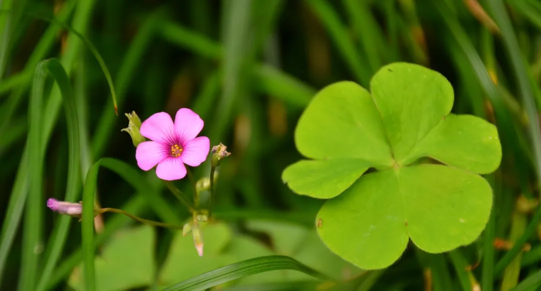
<svg viewBox="0 0 541 291">
<path fill-rule="evenodd" d="M 477 239 L 492 189 L 479 174 L 502 159 L 494 125 L 450 114 L 453 88 L 409 63 L 381 68 L 371 92 L 353 82 L 320 90 L 295 129 L 302 160 L 282 179 L 300 195 L 329 199 L 316 218 L 327 247 L 363 269 L 390 266 L 408 240 L 442 253 Z M 430 157 L 442 164 L 413 164 Z M 366 174 L 366 170 L 377 171 Z"/>
</svg>

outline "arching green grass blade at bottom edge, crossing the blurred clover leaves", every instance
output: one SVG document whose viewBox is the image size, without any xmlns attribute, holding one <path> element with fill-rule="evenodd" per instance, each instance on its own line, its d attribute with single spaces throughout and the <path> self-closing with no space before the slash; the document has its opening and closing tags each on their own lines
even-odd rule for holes
<svg viewBox="0 0 541 291">
<path fill-rule="evenodd" d="M 200 291 L 235 279 L 273 270 L 297 270 L 321 280 L 332 281 L 324 274 L 288 256 L 263 256 L 230 264 L 177 283 L 162 291 Z"/>
</svg>

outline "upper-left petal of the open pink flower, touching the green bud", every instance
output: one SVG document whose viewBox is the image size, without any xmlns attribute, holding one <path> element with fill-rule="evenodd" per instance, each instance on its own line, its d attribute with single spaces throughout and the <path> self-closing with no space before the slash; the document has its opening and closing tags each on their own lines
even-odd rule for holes
<svg viewBox="0 0 541 291">
<path fill-rule="evenodd" d="M 171 116 L 164 112 L 151 115 L 143 121 L 140 133 L 153 141 L 167 143 L 174 137 L 174 124 Z"/>
</svg>

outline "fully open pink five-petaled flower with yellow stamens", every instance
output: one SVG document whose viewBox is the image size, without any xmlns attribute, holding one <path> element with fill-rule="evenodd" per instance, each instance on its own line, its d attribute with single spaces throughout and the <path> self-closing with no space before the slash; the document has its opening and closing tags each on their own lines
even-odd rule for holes
<svg viewBox="0 0 541 291">
<path fill-rule="evenodd" d="M 137 146 L 137 166 L 148 171 L 156 164 L 156 175 L 162 180 L 179 180 L 186 176 L 186 166 L 196 167 L 207 159 L 210 141 L 196 137 L 203 129 L 203 120 L 194 111 L 181 108 L 175 123 L 169 114 L 160 112 L 141 124 L 141 135 L 152 141 Z"/>
</svg>

